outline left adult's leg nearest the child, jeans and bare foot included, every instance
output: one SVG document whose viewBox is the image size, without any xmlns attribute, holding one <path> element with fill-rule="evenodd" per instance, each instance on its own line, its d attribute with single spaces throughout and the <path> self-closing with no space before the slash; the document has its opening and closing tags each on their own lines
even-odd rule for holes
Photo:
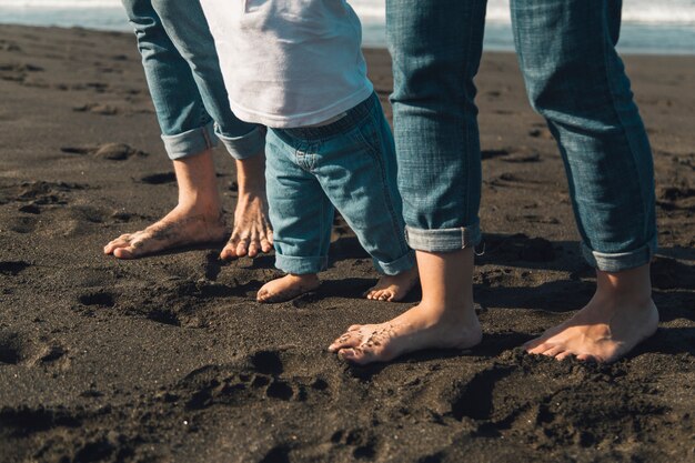
<svg viewBox="0 0 695 463">
<path fill-rule="evenodd" d="M 239 184 L 234 228 L 222 259 L 251 258 L 272 249 L 264 183 L 264 130 L 230 110 L 214 40 L 198 0 L 152 0 L 167 34 L 189 63 L 200 99 L 215 121 L 215 133 L 236 164 Z"/>
</svg>

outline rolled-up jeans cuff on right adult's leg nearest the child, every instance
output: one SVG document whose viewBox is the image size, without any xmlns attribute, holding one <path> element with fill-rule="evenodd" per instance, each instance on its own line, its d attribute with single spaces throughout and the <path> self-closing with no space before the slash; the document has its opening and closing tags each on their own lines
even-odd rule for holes
<svg viewBox="0 0 695 463">
<path fill-rule="evenodd" d="M 452 252 L 474 248 L 481 242 L 480 222 L 456 229 L 423 230 L 405 227 L 407 244 L 417 251 Z"/>
</svg>

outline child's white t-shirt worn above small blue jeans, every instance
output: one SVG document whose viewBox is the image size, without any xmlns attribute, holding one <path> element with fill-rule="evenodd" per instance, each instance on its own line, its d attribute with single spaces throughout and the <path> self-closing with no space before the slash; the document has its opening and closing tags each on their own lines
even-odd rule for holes
<svg viewBox="0 0 695 463">
<path fill-rule="evenodd" d="M 328 121 L 373 92 L 345 0 L 201 0 L 232 111 L 272 128 Z"/>
</svg>

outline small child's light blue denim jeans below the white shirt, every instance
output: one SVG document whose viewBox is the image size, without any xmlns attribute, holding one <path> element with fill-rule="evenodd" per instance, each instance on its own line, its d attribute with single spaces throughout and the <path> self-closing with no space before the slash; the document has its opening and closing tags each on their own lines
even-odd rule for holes
<svg viewBox="0 0 695 463">
<path fill-rule="evenodd" d="M 328 264 L 338 209 L 385 274 L 414 265 L 405 243 L 391 128 L 372 94 L 328 125 L 269 129 L 265 182 L 275 266 L 305 274 Z"/>
</svg>

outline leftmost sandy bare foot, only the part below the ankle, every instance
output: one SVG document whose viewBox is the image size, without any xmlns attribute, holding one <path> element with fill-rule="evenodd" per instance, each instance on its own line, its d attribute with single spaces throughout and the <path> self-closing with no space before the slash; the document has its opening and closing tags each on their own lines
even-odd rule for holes
<svg viewBox="0 0 695 463">
<path fill-rule="evenodd" d="M 224 219 L 220 211 L 205 214 L 178 205 L 147 229 L 111 241 L 103 252 L 119 259 L 137 259 L 181 245 L 219 242 L 224 235 Z"/>
</svg>

